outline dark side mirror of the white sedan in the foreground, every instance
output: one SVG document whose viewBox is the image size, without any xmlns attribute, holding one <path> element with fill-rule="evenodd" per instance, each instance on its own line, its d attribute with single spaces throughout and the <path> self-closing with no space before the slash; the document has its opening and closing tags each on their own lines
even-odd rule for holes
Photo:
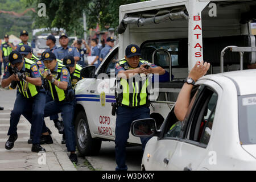
<svg viewBox="0 0 256 182">
<path fill-rule="evenodd" d="M 131 123 L 131 134 L 135 137 L 153 137 L 157 133 L 155 119 L 138 119 Z"/>
</svg>

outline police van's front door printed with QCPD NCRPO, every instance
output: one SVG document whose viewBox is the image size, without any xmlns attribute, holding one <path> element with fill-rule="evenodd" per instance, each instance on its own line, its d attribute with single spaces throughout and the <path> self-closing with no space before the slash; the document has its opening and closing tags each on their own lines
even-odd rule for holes
<svg viewBox="0 0 256 182">
<path fill-rule="evenodd" d="M 92 102 L 93 127 L 95 135 L 104 135 L 114 138 L 115 116 L 112 115 L 112 103 L 115 102 L 114 87 L 115 74 L 114 66 L 118 61 L 118 47 L 106 56 L 96 71 L 97 79 L 93 84 L 92 97 L 97 102 Z"/>
</svg>

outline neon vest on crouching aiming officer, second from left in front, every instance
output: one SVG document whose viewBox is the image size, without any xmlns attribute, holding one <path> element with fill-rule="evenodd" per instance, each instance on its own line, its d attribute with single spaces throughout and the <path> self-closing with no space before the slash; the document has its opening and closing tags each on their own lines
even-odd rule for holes
<svg viewBox="0 0 256 182">
<path fill-rule="evenodd" d="M 52 72 L 52 76 L 57 80 L 60 81 L 60 75 L 61 75 L 61 69 L 65 67 L 65 65 L 57 63 L 58 69 L 57 72 Z M 47 68 L 44 68 L 44 71 L 47 71 Z M 56 85 L 52 84 L 51 81 L 48 80 L 49 89 L 51 90 L 51 95 L 53 100 L 55 101 L 64 101 L 65 100 L 65 91 L 63 89 L 60 89 Z"/>
</svg>

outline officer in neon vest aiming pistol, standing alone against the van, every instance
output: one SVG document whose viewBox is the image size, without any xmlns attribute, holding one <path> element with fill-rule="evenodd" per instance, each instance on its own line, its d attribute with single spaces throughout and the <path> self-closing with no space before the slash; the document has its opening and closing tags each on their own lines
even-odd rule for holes
<svg viewBox="0 0 256 182">
<path fill-rule="evenodd" d="M 131 44 L 126 47 L 125 58 L 115 65 L 115 74 L 118 77 L 120 88 L 123 89 L 117 97 L 118 108 L 115 123 L 115 161 L 117 162 L 115 170 L 117 171 L 127 170 L 125 148 L 131 122 L 136 119 L 150 118 L 147 74 L 163 75 L 165 73 L 163 68 L 140 59 L 140 56 L 141 49 Z M 148 64 L 150 67 L 146 69 Z M 135 92 L 133 92 L 134 89 Z M 141 138 L 143 150 L 148 139 Z"/>
</svg>

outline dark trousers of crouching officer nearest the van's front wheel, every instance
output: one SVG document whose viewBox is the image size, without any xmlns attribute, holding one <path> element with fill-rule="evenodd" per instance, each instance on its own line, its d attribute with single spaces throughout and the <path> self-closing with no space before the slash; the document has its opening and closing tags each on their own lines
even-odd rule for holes
<svg viewBox="0 0 256 182">
<path fill-rule="evenodd" d="M 53 114 L 63 113 L 64 133 L 66 147 L 68 151 L 76 151 L 75 129 L 73 126 L 73 102 L 47 102 L 44 107 L 44 117 Z M 43 130 L 46 130 L 46 124 L 43 123 Z"/>
</svg>

